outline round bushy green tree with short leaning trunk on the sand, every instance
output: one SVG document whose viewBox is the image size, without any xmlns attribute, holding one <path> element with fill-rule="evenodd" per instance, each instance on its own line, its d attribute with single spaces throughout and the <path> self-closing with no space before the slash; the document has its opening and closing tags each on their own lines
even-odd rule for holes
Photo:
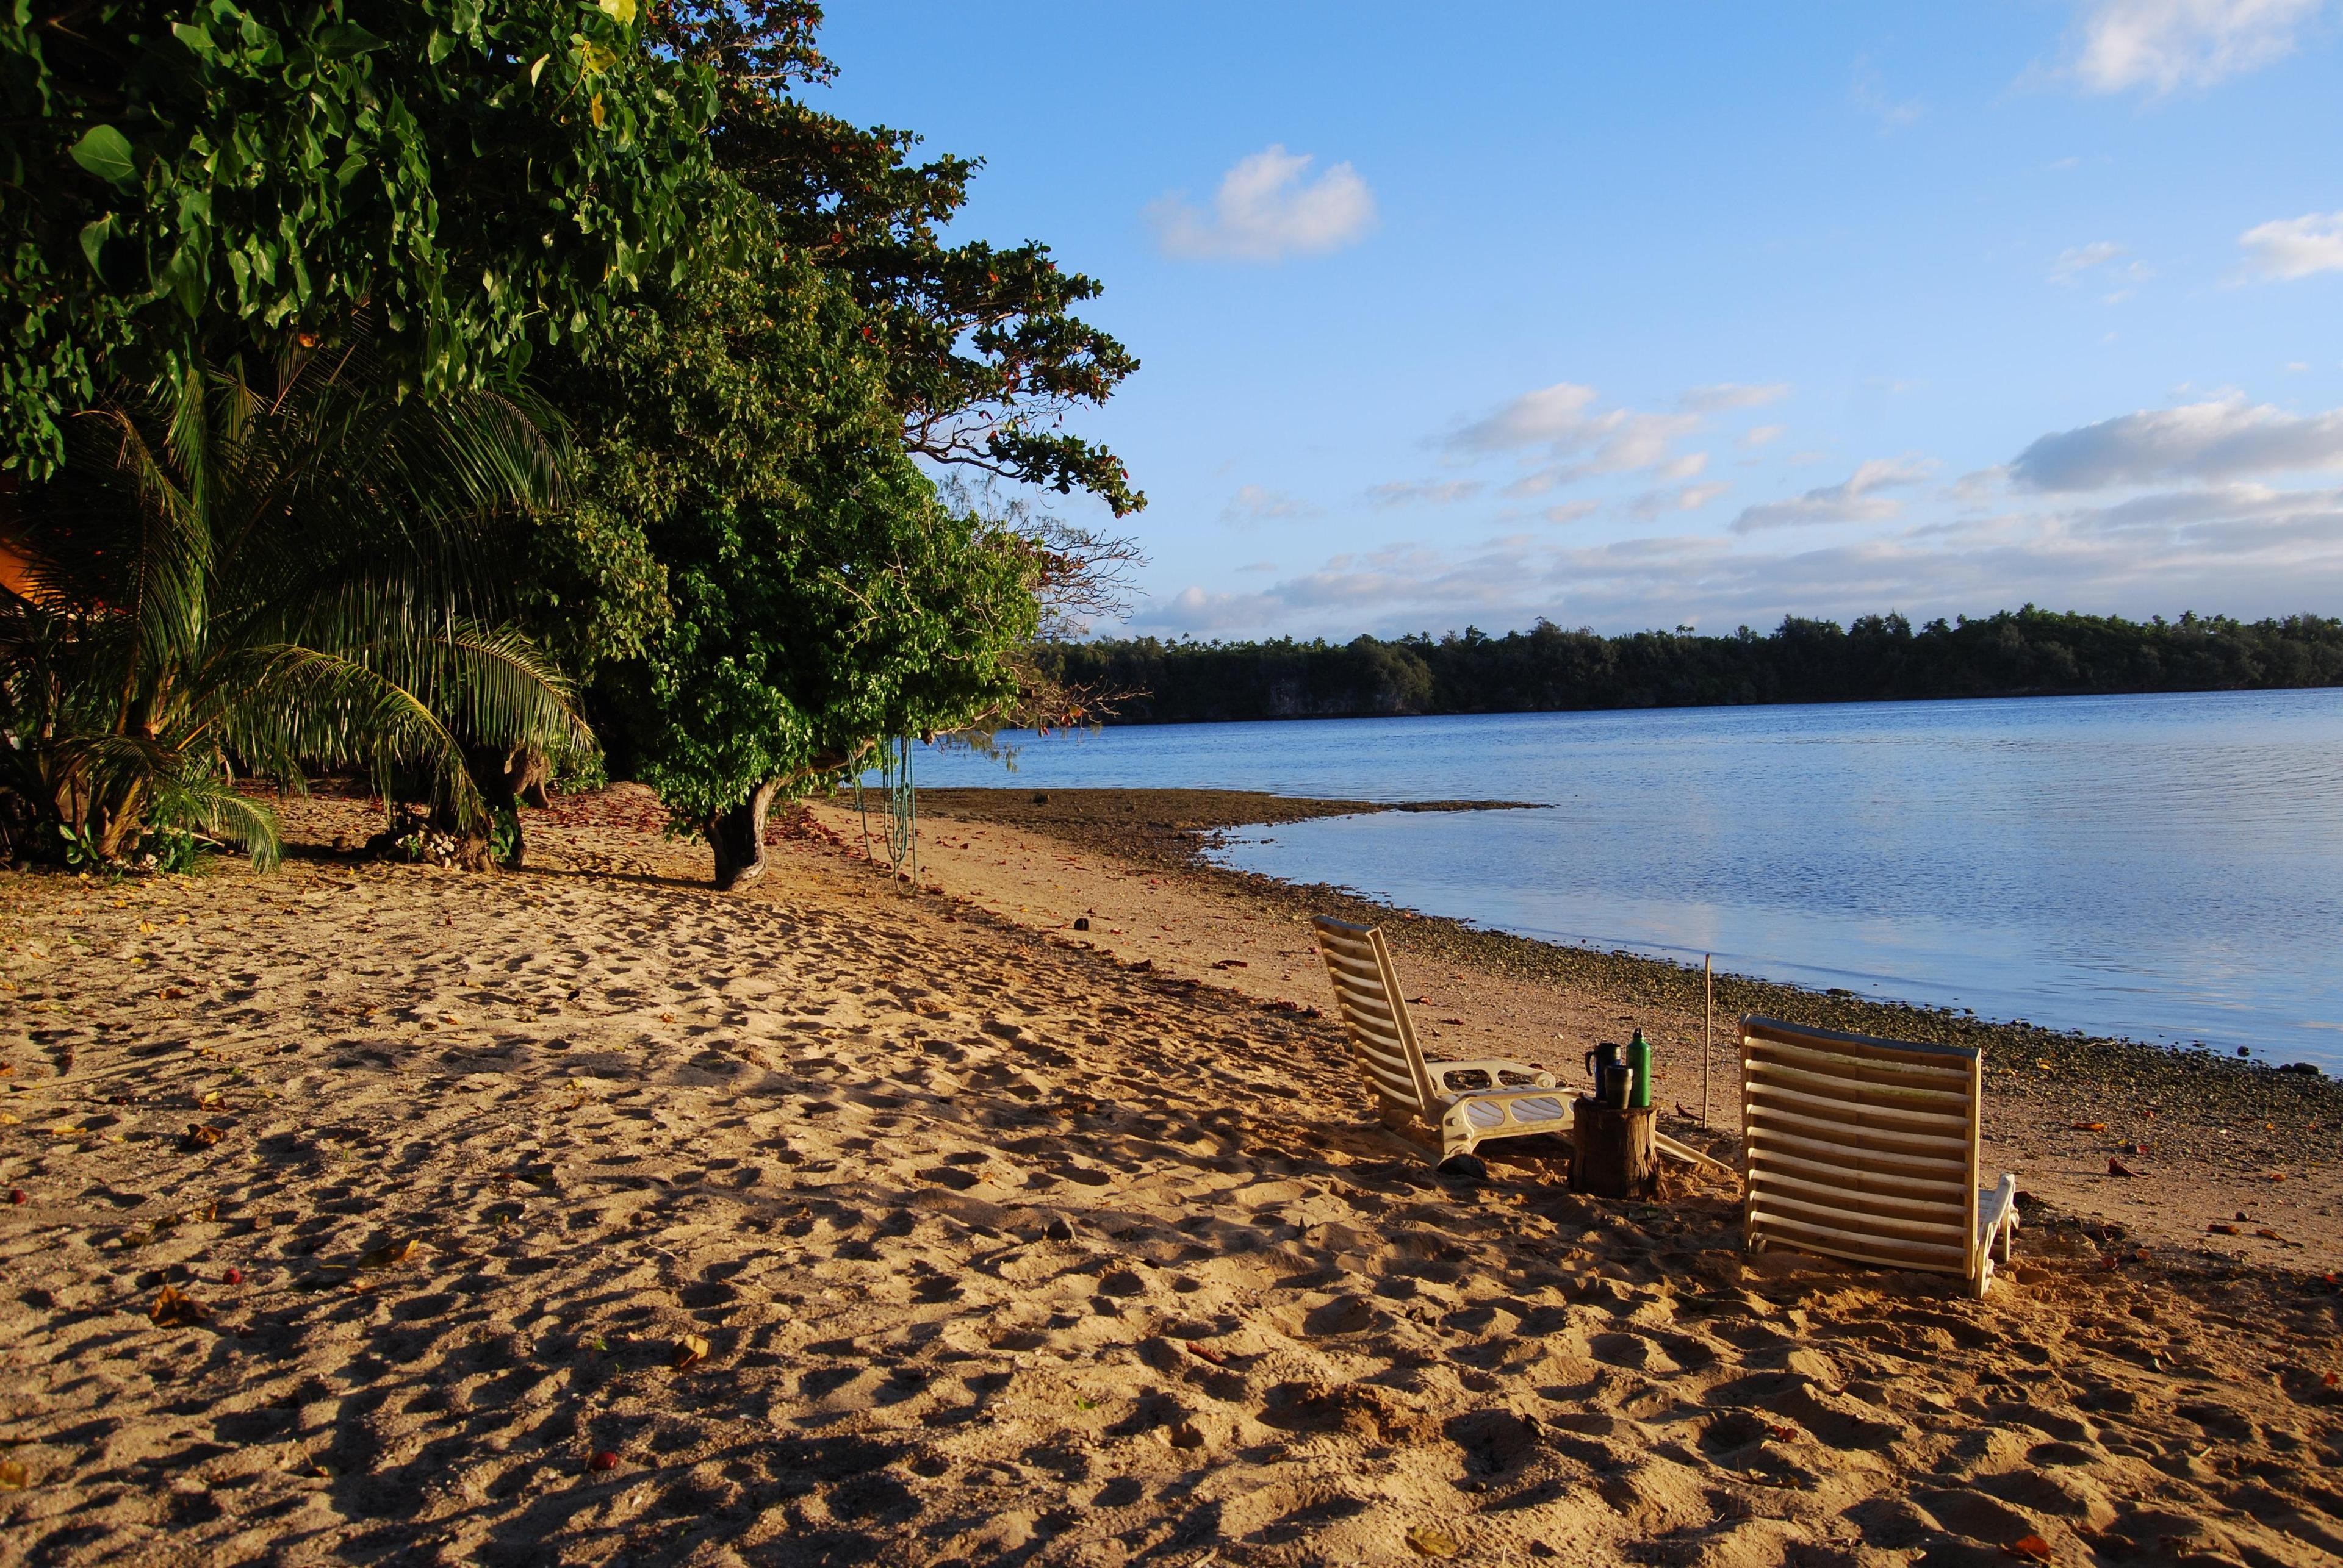
<svg viewBox="0 0 2343 1568">
<path fill-rule="evenodd" d="M 886 735 L 975 723 L 1017 695 L 1040 550 L 947 508 L 904 452 L 886 356 L 825 269 L 778 246 L 649 293 L 548 379 L 579 494 L 633 520 L 670 615 L 607 660 L 635 775 L 764 868 L 764 819 Z"/>
</svg>

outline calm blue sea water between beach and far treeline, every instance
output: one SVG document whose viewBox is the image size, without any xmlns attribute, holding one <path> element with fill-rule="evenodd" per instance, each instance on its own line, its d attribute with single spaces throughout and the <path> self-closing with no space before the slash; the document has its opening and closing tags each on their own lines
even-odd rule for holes
<svg viewBox="0 0 2343 1568">
<path fill-rule="evenodd" d="M 1225 864 L 1987 1018 L 2343 1067 L 2343 690 L 1118 728 L 1015 775 L 1537 812 L 1239 833 Z"/>
</svg>

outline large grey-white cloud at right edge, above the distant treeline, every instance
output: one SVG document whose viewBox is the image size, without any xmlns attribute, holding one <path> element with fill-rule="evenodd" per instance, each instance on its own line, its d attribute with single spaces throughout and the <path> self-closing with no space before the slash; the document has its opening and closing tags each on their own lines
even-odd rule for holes
<svg viewBox="0 0 2343 1568">
<path fill-rule="evenodd" d="M 2287 414 L 2233 393 L 2043 435 L 2010 461 L 2010 477 L 2071 491 L 2313 468 L 2343 468 L 2343 410 Z"/>
</svg>

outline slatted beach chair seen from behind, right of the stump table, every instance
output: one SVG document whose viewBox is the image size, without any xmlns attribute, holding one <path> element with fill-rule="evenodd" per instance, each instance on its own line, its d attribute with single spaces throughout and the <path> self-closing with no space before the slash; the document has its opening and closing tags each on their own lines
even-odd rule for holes
<svg viewBox="0 0 2343 1568">
<path fill-rule="evenodd" d="M 2017 1177 L 1977 1187 L 1985 1072 L 1919 1046 L 1741 1020 L 1743 1238 L 1968 1280 L 2010 1259 Z"/>
</svg>

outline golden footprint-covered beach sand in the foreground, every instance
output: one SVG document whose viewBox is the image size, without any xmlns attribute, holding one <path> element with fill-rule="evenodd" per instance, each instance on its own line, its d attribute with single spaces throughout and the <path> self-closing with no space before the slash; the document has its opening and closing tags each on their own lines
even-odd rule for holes
<svg viewBox="0 0 2343 1568">
<path fill-rule="evenodd" d="M 635 819 L 0 875 L 0 1561 L 2343 1559 L 2320 1273 L 1743 1259 L 1722 1184 L 1432 1170 L 1300 941 L 1162 878 L 1134 971 L 1036 913 L 1111 864 L 815 833 L 717 896 Z"/>
</svg>

